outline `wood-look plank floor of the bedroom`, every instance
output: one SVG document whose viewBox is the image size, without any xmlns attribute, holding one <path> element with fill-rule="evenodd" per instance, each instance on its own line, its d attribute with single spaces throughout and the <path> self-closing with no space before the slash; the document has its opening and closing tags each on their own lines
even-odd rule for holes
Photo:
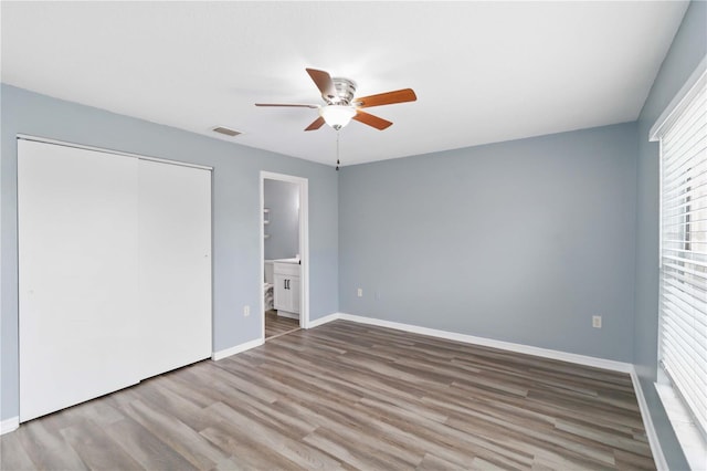
<svg viewBox="0 0 707 471">
<path fill-rule="evenodd" d="M 2 470 L 655 469 L 627 375 L 344 321 L 0 444 Z"/>
</svg>

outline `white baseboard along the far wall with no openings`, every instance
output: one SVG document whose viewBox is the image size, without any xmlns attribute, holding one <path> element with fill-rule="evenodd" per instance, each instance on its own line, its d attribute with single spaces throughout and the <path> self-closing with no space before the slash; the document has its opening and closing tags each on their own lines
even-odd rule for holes
<svg viewBox="0 0 707 471">
<path fill-rule="evenodd" d="M 630 363 L 614 362 L 611 359 L 597 358 L 588 355 L 578 355 L 567 352 L 553 350 L 550 348 L 534 347 L 530 345 L 514 344 L 511 342 L 495 341 L 493 338 L 476 337 L 474 335 L 457 334 L 455 332 L 439 331 L 436 328 L 420 327 L 418 325 L 402 324 L 399 322 L 381 321 L 373 317 L 337 313 L 337 318 L 342 321 L 357 322 L 359 324 L 378 325 L 379 327 L 395 328 L 398 331 L 411 332 L 413 334 L 429 335 L 431 337 L 445 338 L 447 341 L 462 342 L 465 344 L 482 345 L 485 347 L 498 348 L 526 355 L 535 355 L 544 358 L 559 359 L 561 362 L 576 363 L 578 365 L 593 366 L 595 368 L 611 369 L 613 371 L 631 373 L 633 365 Z"/>
</svg>

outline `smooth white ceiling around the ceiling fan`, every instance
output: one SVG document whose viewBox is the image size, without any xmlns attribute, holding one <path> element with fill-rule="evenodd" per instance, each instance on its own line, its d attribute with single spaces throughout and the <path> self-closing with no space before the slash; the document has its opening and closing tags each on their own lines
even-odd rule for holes
<svg viewBox="0 0 707 471">
<path fill-rule="evenodd" d="M 636 119 L 684 1 L 8 2 L 2 82 L 333 165 L 305 67 L 358 82 L 386 130 L 341 130 L 344 165 Z M 221 137 L 212 127 L 244 134 Z M 51 136 L 50 136 L 51 137 Z"/>
</svg>

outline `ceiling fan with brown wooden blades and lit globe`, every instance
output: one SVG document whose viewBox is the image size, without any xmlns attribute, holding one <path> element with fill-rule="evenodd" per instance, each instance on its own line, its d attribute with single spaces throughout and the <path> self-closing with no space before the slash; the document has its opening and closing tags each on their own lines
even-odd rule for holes
<svg viewBox="0 0 707 471">
<path fill-rule="evenodd" d="M 376 129 L 383 130 L 391 122 L 371 115 L 362 111 L 372 106 L 392 105 L 395 103 L 414 102 L 418 100 L 412 88 L 397 90 L 394 92 L 380 93 L 377 95 L 355 97 L 356 82 L 350 78 L 333 77 L 328 72 L 316 69 L 307 69 L 307 73 L 321 92 L 321 97 L 326 105 L 286 104 L 286 103 L 256 103 L 255 106 L 287 106 L 315 108 L 319 111 L 316 118 L 305 130 L 315 130 L 325 123 L 339 130 L 351 119 L 367 124 Z"/>
</svg>

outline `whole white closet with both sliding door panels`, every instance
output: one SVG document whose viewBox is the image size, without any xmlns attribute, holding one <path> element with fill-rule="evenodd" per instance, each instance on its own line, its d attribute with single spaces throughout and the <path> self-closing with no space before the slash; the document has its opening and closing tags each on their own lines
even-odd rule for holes
<svg viewBox="0 0 707 471">
<path fill-rule="evenodd" d="M 211 171 L 18 139 L 20 421 L 211 355 Z"/>
</svg>

